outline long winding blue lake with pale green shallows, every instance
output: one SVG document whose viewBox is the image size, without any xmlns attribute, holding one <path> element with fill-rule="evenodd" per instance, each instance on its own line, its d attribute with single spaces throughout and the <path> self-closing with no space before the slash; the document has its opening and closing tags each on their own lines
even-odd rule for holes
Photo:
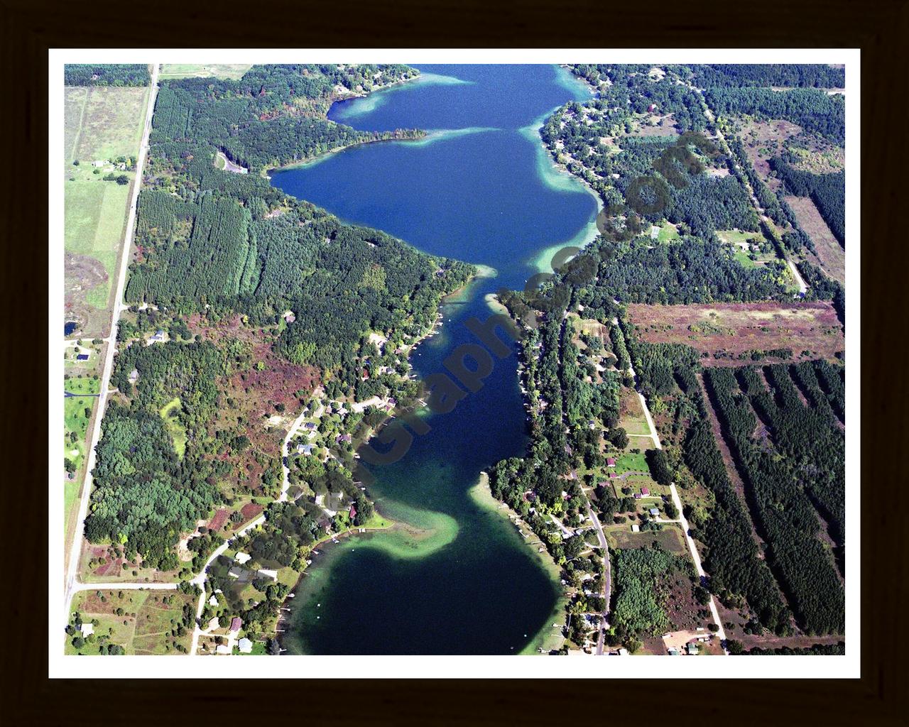
<svg viewBox="0 0 909 727">
<path fill-rule="evenodd" d="M 484 295 L 520 288 L 544 249 L 584 237 L 594 196 L 558 173 L 535 134 L 566 101 L 589 97 L 551 65 L 420 66 L 423 80 L 333 106 L 358 129 L 445 130 L 420 142 L 367 144 L 273 174 L 273 184 L 342 219 L 432 254 L 490 265 L 442 309 L 441 333 L 411 362 L 445 371 L 464 319 L 485 320 Z M 454 79 L 459 79 L 455 82 Z M 285 647 L 304 653 L 517 653 L 561 621 L 552 573 L 514 528 L 470 493 L 478 474 L 522 456 L 516 357 L 496 359 L 478 393 L 435 414 L 404 459 L 373 469 L 380 510 L 430 534 L 345 539 L 320 549 L 293 602 Z"/>
</svg>

